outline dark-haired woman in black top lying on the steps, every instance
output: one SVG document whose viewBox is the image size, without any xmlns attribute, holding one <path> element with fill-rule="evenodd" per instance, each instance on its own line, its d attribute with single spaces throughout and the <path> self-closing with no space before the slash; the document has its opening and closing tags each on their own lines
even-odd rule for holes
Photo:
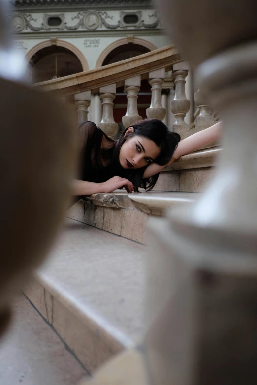
<svg viewBox="0 0 257 385">
<path fill-rule="evenodd" d="M 220 137 L 221 122 L 180 142 L 157 119 L 140 120 L 126 128 L 118 140 L 110 139 L 93 122 L 79 127 L 81 180 L 74 180 L 73 195 L 109 193 L 125 187 L 128 192 L 151 190 L 159 173 L 182 155 Z"/>
</svg>

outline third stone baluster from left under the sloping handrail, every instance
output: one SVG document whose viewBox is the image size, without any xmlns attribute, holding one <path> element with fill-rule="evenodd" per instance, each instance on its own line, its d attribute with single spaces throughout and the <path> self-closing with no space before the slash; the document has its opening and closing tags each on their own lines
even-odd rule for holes
<svg viewBox="0 0 257 385">
<path fill-rule="evenodd" d="M 126 115 L 122 117 L 122 124 L 125 128 L 142 119 L 137 110 L 137 93 L 140 89 L 140 84 L 140 76 L 135 76 L 134 78 L 125 80 L 124 90 L 127 92 L 128 99 Z"/>
</svg>

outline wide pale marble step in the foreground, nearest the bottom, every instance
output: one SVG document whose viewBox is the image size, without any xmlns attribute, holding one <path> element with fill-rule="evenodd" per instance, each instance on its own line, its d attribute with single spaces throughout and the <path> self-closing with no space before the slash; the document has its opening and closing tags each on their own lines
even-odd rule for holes
<svg viewBox="0 0 257 385">
<path fill-rule="evenodd" d="M 68 220 L 24 290 L 89 373 L 141 339 L 145 252 L 136 242 Z"/>
</svg>

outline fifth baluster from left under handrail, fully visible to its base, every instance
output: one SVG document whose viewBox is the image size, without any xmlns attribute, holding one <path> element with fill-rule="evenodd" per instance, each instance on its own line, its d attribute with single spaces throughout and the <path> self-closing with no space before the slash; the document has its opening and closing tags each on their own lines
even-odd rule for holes
<svg viewBox="0 0 257 385">
<path fill-rule="evenodd" d="M 175 132 L 182 133 L 189 130 L 189 125 L 185 123 L 185 116 L 190 109 L 190 101 L 186 97 L 185 83 L 188 75 L 189 66 L 186 61 L 173 65 L 173 76 L 175 83 L 175 96 L 171 101 L 171 111 L 176 121 L 173 124 Z"/>
</svg>

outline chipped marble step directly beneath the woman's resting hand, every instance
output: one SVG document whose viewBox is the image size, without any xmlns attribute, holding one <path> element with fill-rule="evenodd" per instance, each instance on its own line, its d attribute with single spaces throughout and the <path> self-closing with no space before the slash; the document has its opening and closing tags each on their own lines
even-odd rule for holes
<svg viewBox="0 0 257 385">
<path fill-rule="evenodd" d="M 81 200 L 71 207 L 67 216 L 144 244 L 149 217 L 162 216 L 168 208 L 192 203 L 198 195 L 157 191 L 128 194 L 118 190 L 86 197 L 86 201 Z"/>
</svg>

